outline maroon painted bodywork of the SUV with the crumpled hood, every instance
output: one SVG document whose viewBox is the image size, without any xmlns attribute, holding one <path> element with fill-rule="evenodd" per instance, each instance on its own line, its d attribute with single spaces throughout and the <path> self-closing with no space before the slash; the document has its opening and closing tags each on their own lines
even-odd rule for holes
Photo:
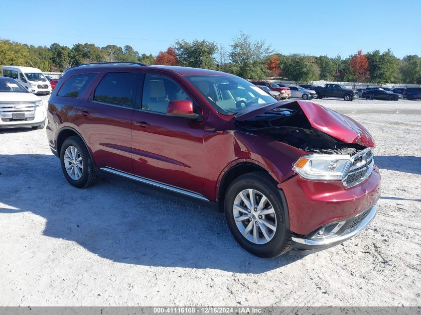
<svg viewBox="0 0 421 315">
<path fill-rule="evenodd" d="M 92 102 L 91 96 L 108 72 L 138 73 L 140 105 L 144 74 L 166 76 L 189 96 L 189 101 L 171 102 L 171 113 L 201 113 L 200 119 L 170 116 L 128 107 Z M 64 82 L 75 74 L 98 73 L 79 98 L 58 97 Z M 86 142 L 97 167 L 111 167 L 218 200 L 219 184 L 238 163 L 255 164 L 266 170 L 286 196 L 290 229 L 306 234 L 321 224 L 355 215 L 379 198 L 377 168 L 362 184 L 344 189 L 341 182 L 311 182 L 292 171 L 292 163 L 305 151 L 267 137 L 246 132 L 233 115 L 218 113 L 183 75 L 232 76 L 230 74 L 174 66 L 74 68 L 57 84 L 48 104 L 47 137 L 58 149 L 63 130 L 78 132 Z M 289 103 L 285 104 L 287 106 Z M 369 132 L 351 118 L 308 102 L 298 102 L 311 125 L 342 141 L 373 146 Z M 246 115 L 270 110 L 274 103 L 254 108 Z M 138 107 L 140 108 L 140 107 Z M 196 110 L 197 108 L 197 110 Z M 275 108 L 275 107 L 273 107 Z M 262 112 L 264 112 L 262 111 Z M 244 119 L 245 117 L 237 119 Z"/>
</svg>

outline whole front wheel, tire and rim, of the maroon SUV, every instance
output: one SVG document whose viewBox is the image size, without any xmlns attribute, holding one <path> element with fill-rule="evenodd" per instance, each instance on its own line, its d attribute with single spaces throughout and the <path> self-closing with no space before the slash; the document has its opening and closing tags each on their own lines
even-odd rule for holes
<svg viewBox="0 0 421 315">
<path fill-rule="evenodd" d="M 226 192 L 224 209 L 232 235 L 248 252 L 272 258 L 290 249 L 280 192 L 265 172 L 234 180 Z"/>
</svg>

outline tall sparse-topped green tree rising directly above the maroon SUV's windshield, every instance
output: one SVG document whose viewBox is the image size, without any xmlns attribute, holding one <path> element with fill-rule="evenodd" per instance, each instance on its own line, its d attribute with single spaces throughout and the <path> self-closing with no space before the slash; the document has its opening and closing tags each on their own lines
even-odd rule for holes
<svg viewBox="0 0 421 315">
<path fill-rule="evenodd" d="M 241 32 L 231 44 L 229 57 L 232 66 L 228 69 L 245 79 L 264 79 L 268 76 L 265 61 L 271 54 L 272 49 L 264 40 L 252 41 L 250 35 Z"/>
</svg>

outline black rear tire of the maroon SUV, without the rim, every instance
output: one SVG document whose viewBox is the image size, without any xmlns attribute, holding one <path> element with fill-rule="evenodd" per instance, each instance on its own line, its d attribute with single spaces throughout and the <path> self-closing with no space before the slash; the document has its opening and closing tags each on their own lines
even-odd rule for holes
<svg viewBox="0 0 421 315">
<path fill-rule="evenodd" d="M 64 152 L 71 145 L 78 149 L 80 156 L 82 157 L 82 175 L 78 180 L 73 180 L 69 174 L 67 174 L 66 167 L 64 165 Z M 64 140 L 60 150 L 60 164 L 64 177 L 70 183 L 70 185 L 74 187 L 87 188 L 94 185 L 99 179 L 99 176 L 95 172 L 94 162 L 89 155 L 88 149 L 79 136 L 71 136 Z"/>
</svg>

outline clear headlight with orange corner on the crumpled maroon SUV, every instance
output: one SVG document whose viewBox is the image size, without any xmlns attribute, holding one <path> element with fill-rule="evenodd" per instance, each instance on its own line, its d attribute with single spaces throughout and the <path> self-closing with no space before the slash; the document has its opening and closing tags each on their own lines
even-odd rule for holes
<svg viewBox="0 0 421 315">
<path fill-rule="evenodd" d="M 342 180 L 351 163 L 349 155 L 314 154 L 299 158 L 293 169 L 302 178 L 313 181 Z"/>
</svg>

